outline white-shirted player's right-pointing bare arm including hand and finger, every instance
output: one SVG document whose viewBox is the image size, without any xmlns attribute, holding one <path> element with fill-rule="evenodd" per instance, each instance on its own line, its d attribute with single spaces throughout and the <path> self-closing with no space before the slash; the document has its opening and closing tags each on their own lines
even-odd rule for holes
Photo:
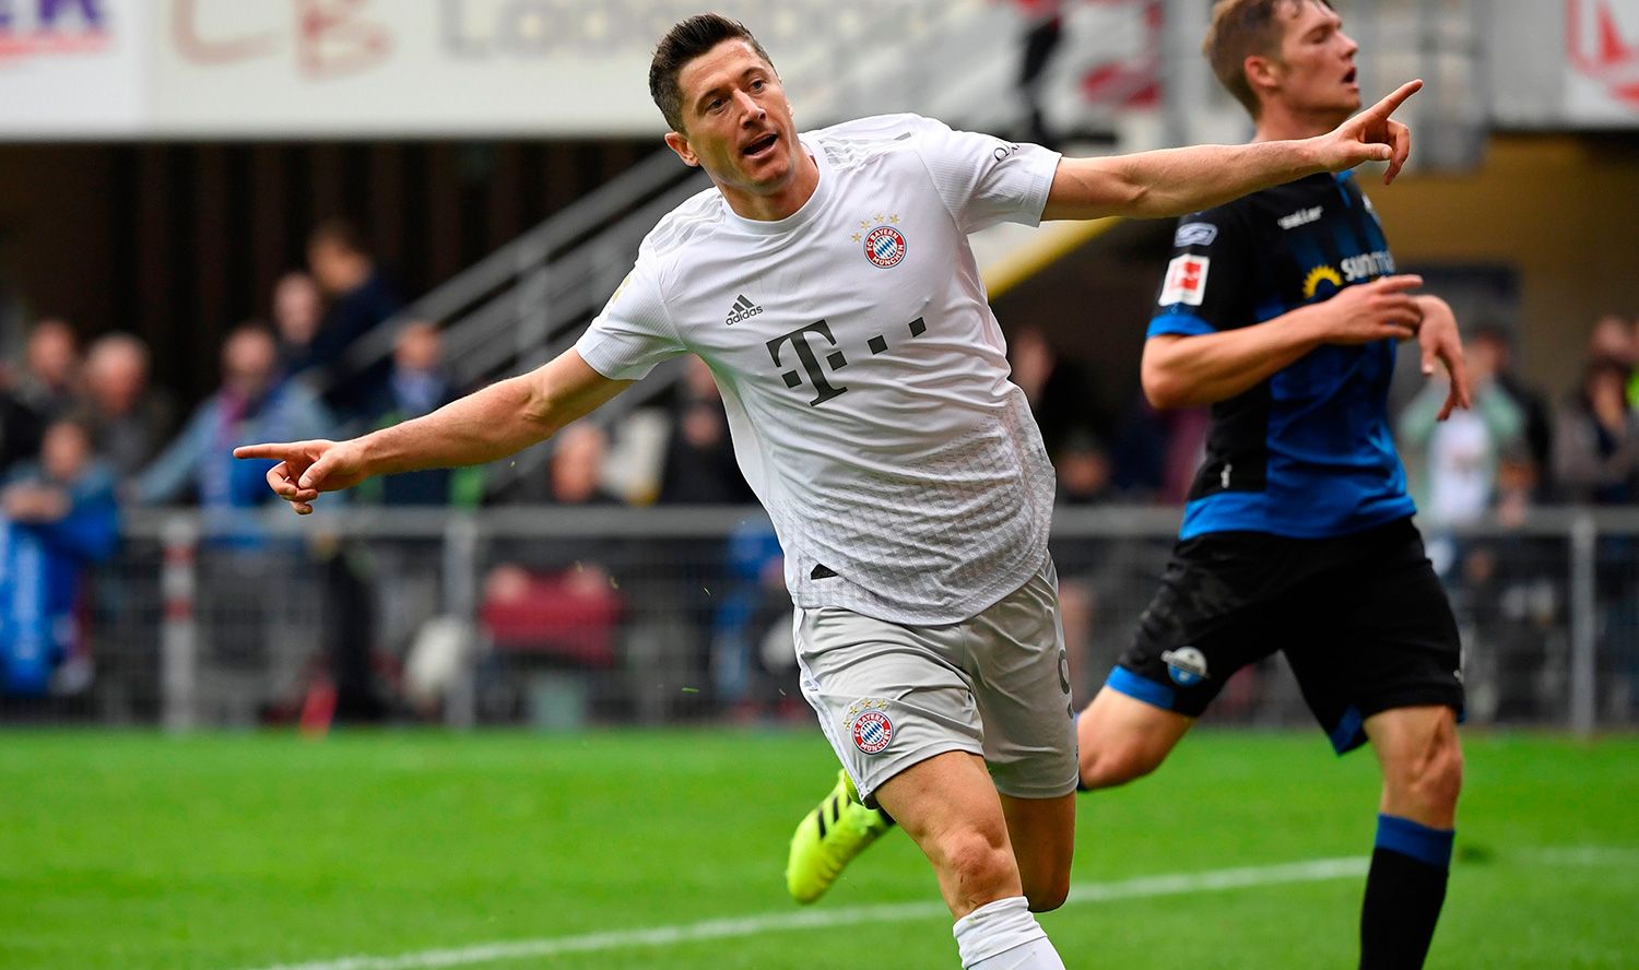
<svg viewBox="0 0 1639 970">
<path fill-rule="evenodd" d="M 1334 131 L 1316 138 L 1062 159 L 1041 218 L 1182 216 L 1305 175 L 1342 172 L 1362 162 L 1388 162 L 1385 182 L 1392 182 L 1411 152 L 1411 129 L 1390 115 L 1421 87 L 1421 80 L 1406 82 Z"/>
</svg>

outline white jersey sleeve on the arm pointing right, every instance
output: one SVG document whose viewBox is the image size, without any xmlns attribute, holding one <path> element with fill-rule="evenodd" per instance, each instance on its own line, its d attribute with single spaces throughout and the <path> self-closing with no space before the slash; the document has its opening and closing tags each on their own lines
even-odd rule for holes
<svg viewBox="0 0 1639 970">
<path fill-rule="evenodd" d="M 1059 152 L 916 120 L 916 151 L 964 233 L 997 223 L 1041 223 Z"/>
</svg>

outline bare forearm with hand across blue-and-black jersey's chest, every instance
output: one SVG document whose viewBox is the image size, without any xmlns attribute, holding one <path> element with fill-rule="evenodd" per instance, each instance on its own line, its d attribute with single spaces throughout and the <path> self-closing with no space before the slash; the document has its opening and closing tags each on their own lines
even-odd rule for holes
<svg viewBox="0 0 1639 970">
<path fill-rule="evenodd" d="M 1195 408 L 1236 397 L 1321 344 L 1406 341 L 1423 321 L 1406 290 L 1423 277 L 1382 277 L 1346 287 L 1331 300 L 1239 329 L 1154 336 L 1139 365 L 1144 395 L 1157 408 Z"/>
</svg>

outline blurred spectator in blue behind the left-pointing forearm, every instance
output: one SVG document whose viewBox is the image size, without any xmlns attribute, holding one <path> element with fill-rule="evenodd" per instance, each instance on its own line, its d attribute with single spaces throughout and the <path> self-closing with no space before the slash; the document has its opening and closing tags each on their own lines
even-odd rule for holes
<svg viewBox="0 0 1639 970">
<path fill-rule="evenodd" d="M 393 367 L 365 408 L 370 428 L 387 428 L 436 411 L 459 397 L 444 375 L 444 341 L 426 321 L 406 323 L 393 341 Z M 477 506 L 484 500 L 484 467 L 426 469 L 380 475 L 359 485 L 359 501 L 382 505 Z"/>
</svg>

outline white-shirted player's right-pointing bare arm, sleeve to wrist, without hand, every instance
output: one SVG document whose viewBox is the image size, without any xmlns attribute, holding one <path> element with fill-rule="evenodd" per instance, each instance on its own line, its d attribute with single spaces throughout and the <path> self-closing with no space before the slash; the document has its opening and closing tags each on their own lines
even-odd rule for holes
<svg viewBox="0 0 1639 970">
<path fill-rule="evenodd" d="M 1064 159 L 1044 220 L 1180 216 L 1324 172 L 1310 141 L 1200 144 L 1101 159 Z"/>
</svg>

